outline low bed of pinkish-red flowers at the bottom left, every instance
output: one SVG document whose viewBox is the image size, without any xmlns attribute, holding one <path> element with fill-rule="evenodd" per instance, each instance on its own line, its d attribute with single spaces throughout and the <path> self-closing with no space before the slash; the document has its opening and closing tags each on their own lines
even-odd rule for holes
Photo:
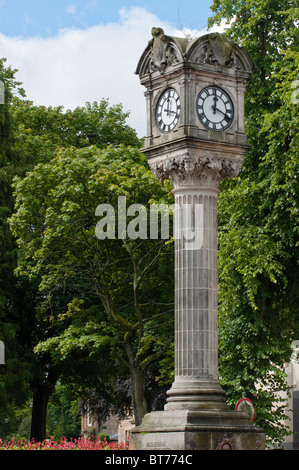
<svg viewBox="0 0 299 470">
<path fill-rule="evenodd" d="M 128 450 L 128 443 L 118 444 L 117 442 L 107 442 L 104 440 L 88 439 L 79 437 L 67 441 L 65 437 L 55 441 L 52 437 L 44 442 L 35 442 L 34 440 L 16 440 L 2 441 L 0 438 L 0 450 Z"/>
</svg>

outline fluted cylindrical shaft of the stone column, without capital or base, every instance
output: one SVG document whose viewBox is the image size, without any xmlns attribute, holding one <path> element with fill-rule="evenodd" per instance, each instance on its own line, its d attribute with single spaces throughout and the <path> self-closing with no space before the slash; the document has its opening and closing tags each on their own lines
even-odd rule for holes
<svg viewBox="0 0 299 470">
<path fill-rule="evenodd" d="M 218 191 L 174 193 L 180 219 L 175 237 L 175 376 L 217 379 Z"/>
</svg>

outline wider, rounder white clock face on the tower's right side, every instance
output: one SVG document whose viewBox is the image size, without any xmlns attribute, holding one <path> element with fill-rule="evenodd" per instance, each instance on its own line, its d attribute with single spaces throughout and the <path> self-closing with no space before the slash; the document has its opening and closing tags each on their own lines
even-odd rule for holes
<svg viewBox="0 0 299 470">
<path fill-rule="evenodd" d="M 199 93 L 196 101 L 197 115 L 209 130 L 221 132 L 234 119 L 234 106 L 226 91 L 217 86 L 207 86 Z"/>
</svg>

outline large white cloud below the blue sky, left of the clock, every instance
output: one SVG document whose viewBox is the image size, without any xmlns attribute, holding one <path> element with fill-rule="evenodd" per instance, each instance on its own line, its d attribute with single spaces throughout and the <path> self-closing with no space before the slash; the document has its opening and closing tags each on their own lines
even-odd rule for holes
<svg viewBox="0 0 299 470">
<path fill-rule="evenodd" d="M 35 104 L 73 109 L 108 98 L 111 105 L 122 103 L 131 112 L 129 124 L 145 135 L 145 89 L 134 74 L 138 60 L 153 26 L 183 33 L 143 8 L 123 8 L 119 15 L 117 23 L 65 29 L 52 38 L 0 34 L 1 55 L 19 70 L 17 78 Z"/>
</svg>

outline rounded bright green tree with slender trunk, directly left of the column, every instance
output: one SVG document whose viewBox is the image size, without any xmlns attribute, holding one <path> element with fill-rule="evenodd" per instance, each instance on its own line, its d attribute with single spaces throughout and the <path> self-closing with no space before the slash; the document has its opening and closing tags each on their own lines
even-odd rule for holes
<svg viewBox="0 0 299 470">
<path fill-rule="evenodd" d="M 161 187 L 138 149 L 122 145 L 60 149 L 15 188 L 11 227 L 19 247 L 18 272 L 39 279 L 43 297 L 47 336 L 39 337 L 36 352 L 50 357 L 58 370 L 80 350 L 92 357 L 106 348 L 108 369 L 117 361 L 130 374 L 139 423 L 147 411 L 145 371 L 172 340 L 172 245 L 119 234 L 99 240 L 95 209 L 110 204 L 118 220 L 119 196 L 127 207 L 149 208 L 155 200 L 173 201 L 169 186 Z M 82 324 L 91 309 L 95 317 Z"/>
</svg>

